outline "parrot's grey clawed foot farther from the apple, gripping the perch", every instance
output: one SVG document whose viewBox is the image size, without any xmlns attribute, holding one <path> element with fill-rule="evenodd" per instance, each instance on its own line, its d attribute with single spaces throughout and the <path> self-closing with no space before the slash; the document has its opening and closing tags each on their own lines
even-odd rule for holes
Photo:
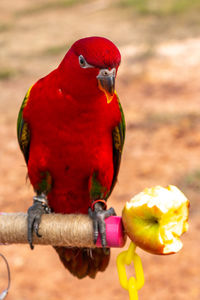
<svg viewBox="0 0 200 300">
<path fill-rule="evenodd" d="M 50 208 L 47 204 L 47 198 L 44 194 L 33 197 L 33 205 L 28 209 L 28 243 L 31 249 L 34 248 L 33 232 L 35 232 L 38 237 L 41 237 L 38 232 L 41 217 L 43 214 L 47 214 L 50 212 Z"/>
</svg>

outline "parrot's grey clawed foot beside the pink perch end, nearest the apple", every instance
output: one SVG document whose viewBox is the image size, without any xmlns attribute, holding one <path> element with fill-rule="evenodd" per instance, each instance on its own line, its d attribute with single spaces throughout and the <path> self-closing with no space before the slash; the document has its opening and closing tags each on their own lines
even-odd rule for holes
<svg viewBox="0 0 200 300">
<path fill-rule="evenodd" d="M 110 216 L 116 216 L 114 208 L 109 208 L 108 210 L 104 210 L 102 203 L 97 202 L 94 204 L 94 210 L 91 208 L 88 209 L 88 214 L 93 221 L 93 238 L 94 244 L 97 242 L 98 234 L 100 233 L 101 244 L 105 249 L 106 242 L 106 224 L 105 219 Z M 105 249 L 106 251 L 106 249 Z"/>
</svg>

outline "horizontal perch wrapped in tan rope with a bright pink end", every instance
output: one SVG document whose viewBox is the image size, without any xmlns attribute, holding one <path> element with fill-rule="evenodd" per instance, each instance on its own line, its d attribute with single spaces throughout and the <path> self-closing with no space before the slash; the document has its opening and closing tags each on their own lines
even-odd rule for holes
<svg viewBox="0 0 200 300">
<path fill-rule="evenodd" d="M 93 243 L 92 220 L 82 214 L 47 214 L 42 216 L 38 238 L 34 234 L 33 244 L 66 247 L 100 247 Z M 120 217 L 106 219 L 107 244 L 123 247 L 125 234 Z M 27 214 L 0 213 L 0 244 L 24 244 L 27 241 Z"/>
</svg>

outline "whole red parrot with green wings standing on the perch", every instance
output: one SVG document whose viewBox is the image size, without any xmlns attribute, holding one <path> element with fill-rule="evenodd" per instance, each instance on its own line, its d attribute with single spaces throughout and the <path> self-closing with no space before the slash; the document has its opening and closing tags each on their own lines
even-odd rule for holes
<svg viewBox="0 0 200 300">
<path fill-rule="evenodd" d="M 108 39 L 76 41 L 57 69 L 27 92 L 18 115 L 17 136 L 35 196 L 28 209 L 28 241 L 38 235 L 44 213 L 87 214 L 94 243 L 103 248 L 56 247 L 69 271 L 95 277 L 108 265 L 106 201 L 117 181 L 125 121 L 115 92 L 121 55 Z"/>
</svg>

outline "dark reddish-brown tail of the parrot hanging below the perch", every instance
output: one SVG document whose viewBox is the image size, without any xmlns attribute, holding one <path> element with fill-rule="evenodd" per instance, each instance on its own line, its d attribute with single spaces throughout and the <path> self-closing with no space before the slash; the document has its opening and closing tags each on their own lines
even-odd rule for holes
<svg viewBox="0 0 200 300">
<path fill-rule="evenodd" d="M 54 248 L 65 268 L 79 279 L 95 278 L 97 272 L 106 269 L 110 259 L 110 249 L 105 252 L 102 248 Z"/>
</svg>

